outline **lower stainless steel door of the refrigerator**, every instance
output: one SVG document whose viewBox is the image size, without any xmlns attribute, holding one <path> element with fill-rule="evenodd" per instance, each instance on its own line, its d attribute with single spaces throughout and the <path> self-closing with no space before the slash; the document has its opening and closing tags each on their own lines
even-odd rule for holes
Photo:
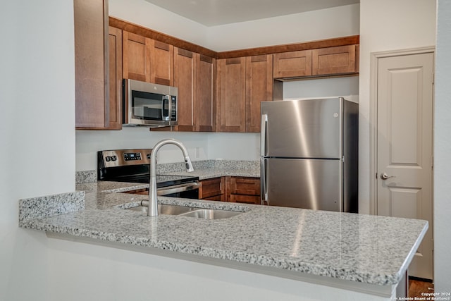
<svg viewBox="0 0 451 301">
<path fill-rule="evenodd" d="M 342 161 L 261 159 L 262 203 L 342 211 Z"/>
</svg>

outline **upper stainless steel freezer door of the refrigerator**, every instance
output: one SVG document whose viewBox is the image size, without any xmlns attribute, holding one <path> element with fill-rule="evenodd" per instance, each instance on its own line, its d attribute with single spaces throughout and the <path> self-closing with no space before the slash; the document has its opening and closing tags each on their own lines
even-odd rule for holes
<svg viewBox="0 0 451 301">
<path fill-rule="evenodd" d="M 261 155 L 342 158 L 342 102 L 308 99 L 261 102 Z"/>
</svg>

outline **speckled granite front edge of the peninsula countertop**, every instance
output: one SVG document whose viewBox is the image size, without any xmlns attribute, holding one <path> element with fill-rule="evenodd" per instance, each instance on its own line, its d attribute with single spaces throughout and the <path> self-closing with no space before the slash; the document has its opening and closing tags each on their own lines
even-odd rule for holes
<svg viewBox="0 0 451 301">
<path fill-rule="evenodd" d="M 177 202 L 175 202 L 177 203 Z M 190 219 L 190 218 L 187 218 Z M 276 268 L 286 271 L 294 271 L 299 273 L 311 274 L 315 276 L 326 276 L 330 278 L 338 278 L 344 281 L 355 281 L 358 283 L 367 283 L 372 285 L 396 285 L 402 279 L 404 272 L 407 270 L 408 264 L 411 262 L 415 250 L 411 250 L 404 263 L 393 274 L 371 274 L 368 271 L 359 271 L 354 267 L 350 269 L 335 268 L 333 266 L 322 266 L 309 262 L 302 262 L 299 259 L 283 256 L 271 256 L 267 254 L 255 254 L 242 251 L 221 250 L 210 247 L 202 247 L 199 245 L 180 244 L 176 241 L 152 240 L 148 237 L 140 237 L 127 235 L 124 233 L 109 233 L 104 231 L 95 231 L 93 229 L 85 229 L 79 227 L 55 226 L 41 219 L 25 221 L 21 224 L 22 228 L 33 229 L 37 231 L 45 231 L 70 235 L 80 238 L 92 238 L 103 240 L 106 242 L 119 242 L 130 246 L 149 247 L 170 252 L 178 252 L 182 254 L 198 255 L 201 257 L 209 257 L 211 259 L 225 259 L 242 264 L 256 264 L 258 266 Z M 423 231 L 419 239 L 416 241 L 416 247 L 423 238 L 428 228 L 427 222 L 424 224 Z"/>
</svg>

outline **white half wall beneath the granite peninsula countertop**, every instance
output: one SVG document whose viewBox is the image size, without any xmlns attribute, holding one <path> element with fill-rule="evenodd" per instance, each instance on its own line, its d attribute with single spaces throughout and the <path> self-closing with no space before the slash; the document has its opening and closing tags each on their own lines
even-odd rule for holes
<svg viewBox="0 0 451 301">
<path fill-rule="evenodd" d="M 52 250 L 49 262 L 51 298 L 46 301 L 389 300 L 249 271 L 81 242 L 49 239 L 49 247 Z"/>
</svg>

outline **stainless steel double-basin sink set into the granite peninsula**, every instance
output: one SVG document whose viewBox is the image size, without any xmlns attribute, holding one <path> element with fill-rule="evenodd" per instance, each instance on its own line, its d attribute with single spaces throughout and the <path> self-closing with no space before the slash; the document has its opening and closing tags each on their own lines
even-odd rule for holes
<svg viewBox="0 0 451 301">
<path fill-rule="evenodd" d="M 127 210 L 140 211 L 147 214 L 147 201 L 143 201 L 140 206 L 131 207 Z M 144 206 L 143 206 L 144 205 Z M 240 211 L 230 211 L 221 209 L 202 209 L 196 207 L 186 207 L 180 205 L 158 204 L 159 214 L 189 216 L 197 219 L 228 219 L 229 217 L 242 214 Z"/>
</svg>

